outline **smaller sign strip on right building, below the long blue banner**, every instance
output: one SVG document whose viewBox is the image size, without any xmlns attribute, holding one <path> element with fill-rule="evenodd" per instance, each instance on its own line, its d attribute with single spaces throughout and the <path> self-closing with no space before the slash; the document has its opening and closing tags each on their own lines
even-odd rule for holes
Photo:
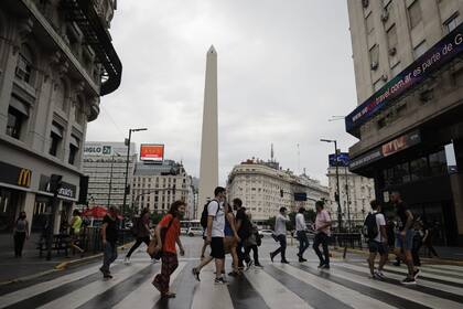
<svg viewBox="0 0 463 309">
<path fill-rule="evenodd" d="M 351 160 L 349 170 L 354 171 L 360 167 L 368 166 L 379 159 L 386 158 L 399 151 L 402 151 L 407 148 L 410 148 L 417 143 L 421 142 L 421 137 L 419 131 L 412 131 L 407 135 L 402 135 L 391 141 L 383 143 L 380 147 Z"/>
</svg>

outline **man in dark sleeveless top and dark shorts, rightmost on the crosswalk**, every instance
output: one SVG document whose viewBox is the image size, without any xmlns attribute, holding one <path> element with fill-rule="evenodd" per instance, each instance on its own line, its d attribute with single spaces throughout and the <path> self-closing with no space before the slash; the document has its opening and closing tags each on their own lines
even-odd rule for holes
<svg viewBox="0 0 463 309">
<path fill-rule="evenodd" d="M 408 267 L 408 275 L 401 281 L 403 285 L 414 285 L 418 273 L 413 265 L 411 249 L 413 246 L 413 215 L 408 205 L 402 201 L 400 193 L 395 191 L 390 194 L 390 201 L 395 204 L 398 219 L 398 231 L 396 232 L 396 256 L 399 257 Z"/>
</svg>

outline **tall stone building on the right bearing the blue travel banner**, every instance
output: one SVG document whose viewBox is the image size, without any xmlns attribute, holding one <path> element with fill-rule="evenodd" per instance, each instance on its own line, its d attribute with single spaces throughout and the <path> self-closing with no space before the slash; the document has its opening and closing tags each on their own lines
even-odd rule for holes
<svg viewBox="0 0 463 309">
<path fill-rule="evenodd" d="M 437 245 L 463 245 L 463 1 L 347 0 L 358 138 L 349 170 L 375 180 L 387 206 L 399 191 L 434 226 Z M 357 106 L 355 106 L 357 105 Z"/>
</svg>

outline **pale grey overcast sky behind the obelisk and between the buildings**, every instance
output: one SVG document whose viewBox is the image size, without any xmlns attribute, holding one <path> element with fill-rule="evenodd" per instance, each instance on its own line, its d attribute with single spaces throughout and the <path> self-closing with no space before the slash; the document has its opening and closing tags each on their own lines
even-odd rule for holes
<svg viewBox="0 0 463 309">
<path fill-rule="evenodd" d="M 206 52 L 218 54 L 219 178 L 251 157 L 323 183 L 327 154 L 355 142 L 344 121 L 356 106 L 345 0 L 120 0 L 111 36 L 122 84 L 101 97 L 87 140 L 165 143 L 198 177 Z M 300 145 L 300 164 L 298 147 Z"/>
</svg>

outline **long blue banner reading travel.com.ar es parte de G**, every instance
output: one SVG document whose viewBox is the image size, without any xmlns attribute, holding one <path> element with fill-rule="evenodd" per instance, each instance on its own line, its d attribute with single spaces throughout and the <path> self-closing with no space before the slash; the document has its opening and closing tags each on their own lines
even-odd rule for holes
<svg viewBox="0 0 463 309">
<path fill-rule="evenodd" d="M 427 79 L 463 51 L 463 23 L 428 50 L 416 62 L 390 79 L 346 118 L 346 131 L 358 137 L 358 128 L 409 88 Z"/>
</svg>

